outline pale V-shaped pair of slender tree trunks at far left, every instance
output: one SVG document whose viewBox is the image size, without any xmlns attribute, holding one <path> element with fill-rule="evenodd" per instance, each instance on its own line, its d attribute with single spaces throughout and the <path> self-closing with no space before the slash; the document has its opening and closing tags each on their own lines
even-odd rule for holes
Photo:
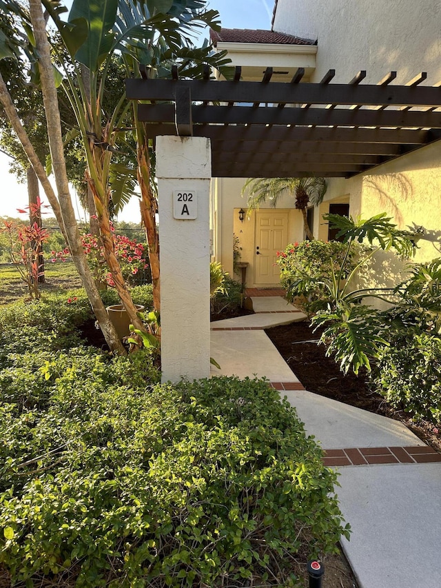
<svg viewBox="0 0 441 588">
<path fill-rule="evenodd" d="M 48 175 L 41 164 L 39 156 L 32 145 L 28 134 L 21 123 L 19 113 L 15 107 L 8 86 L 6 85 L 0 73 L 0 103 L 3 106 L 4 112 L 10 121 L 14 132 L 16 132 L 23 150 L 34 169 L 35 174 L 45 191 L 52 210 L 57 218 L 59 227 L 66 243 L 70 247 L 72 258 L 76 265 L 83 285 L 88 297 L 96 319 L 105 339 L 112 351 L 124 354 L 125 349 L 119 341 L 114 326 L 107 316 L 105 307 L 99 292 L 94 283 L 92 274 L 89 270 L 83 247 L 81 247 L 81 239 L 79 235 L 78 226 L 76 224 L 72 200 L 70 199 L 70 191 L 68 184 L 68 176 L 66 172 L 65 157 L 64 157 L 64 143 L 61 133 L 61 116 L 59 112 L 59 105 L 57 99 L 57 79 L 59 81 L 59 74 L 56 76 L 50 56 L 50 47 L 46 33 L 46 22 L 43 16 L 41 3 L 38 0 L 30 0 L 30 15 L 21 8 L 19 3 L 13 0 L 8 2 L 0 2 L 0 8 L 6 13 L 17 15 L 21 19 L 22 27 L 19 28 L 14 22 L 7 30 L 7 34 L 3 32 L 0 44 L 0 57 L 5 59 L 18 59 L 19 62 L 30 63 L 31 71 L 35 79 L 39 79 L 41 89 L 43 92 L 43 103 L 45 108 L 46 121 L 48 123 L 48 138 L 50 143 L 50 151 L 52 161 L 54 162 L 54 176 L 57 185 L 58 197 L 52 188 L 48 179 Z M 28 40 L 28 35 L 30 40 Z M 38 52 L 38 65 L 34 57 L 35 51 Z M 23 54 L 25 57 L 23 58 Z M 27 61 L 28 60 L 28 61 Z"/>
</svg>

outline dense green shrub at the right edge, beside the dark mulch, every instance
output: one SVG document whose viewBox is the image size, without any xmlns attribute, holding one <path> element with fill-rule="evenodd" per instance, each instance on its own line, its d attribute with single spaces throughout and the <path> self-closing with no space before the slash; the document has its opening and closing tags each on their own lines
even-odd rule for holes
<svg viewBox="0 0 441 588">
<path fill-rule="evenodd" d="M 441 338 L 429 333 L 396 336 L 383 349 L 373 385 L 414 420 L 441 425 Z"/>
</svg>

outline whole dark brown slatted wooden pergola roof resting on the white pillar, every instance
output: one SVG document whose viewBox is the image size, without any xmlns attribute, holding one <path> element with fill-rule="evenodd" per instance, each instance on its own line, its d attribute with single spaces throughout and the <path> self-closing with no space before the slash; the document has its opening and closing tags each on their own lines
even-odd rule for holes
<svg viewBox="0 0 441 588">
<path fill-rule="evenodd" d="M 207 136 L 214 177 L 351 177 L 441 139 L 441 88 L 376 85 L 365 71 L 349 83 L 129 79 L 127 98 L 140 101 L 148 136 Z"/>
</svg>

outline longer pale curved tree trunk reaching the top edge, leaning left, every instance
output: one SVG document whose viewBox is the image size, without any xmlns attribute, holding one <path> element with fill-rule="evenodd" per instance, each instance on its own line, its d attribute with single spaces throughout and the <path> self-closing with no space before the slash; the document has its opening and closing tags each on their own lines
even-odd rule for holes
<svg viewBox="0 0 441 588">
<path fill-rule="evenodd" d="M 119 341 L 116 330 L 107 315 L 103 301 L 101 300 L 99 292 L 94 284 L 92 273 L 90 272 L 85 258 L 78 225 L 76 224 L 74 208 L 70 198 L 68 175 L 65 168 L 57 89 L 55 88 L 54 83 L 54 74 L 50 59 L 50 47 L 40 0 L 30 0 L 30 14 L 37 50 L 39 52 L 41 88 L 43 90 L 43 103 L 46 121 L 48 123 L 48 138 L 50 153 L 52 156 L 52 168 L 54 170 L 59 205 L 63 214 L 64 227 L 68 237 L 70 252 L 107 344 L 112 351 L 119 354 L 125 354 L 125 349 L 121 341 Z"/>
</svg>

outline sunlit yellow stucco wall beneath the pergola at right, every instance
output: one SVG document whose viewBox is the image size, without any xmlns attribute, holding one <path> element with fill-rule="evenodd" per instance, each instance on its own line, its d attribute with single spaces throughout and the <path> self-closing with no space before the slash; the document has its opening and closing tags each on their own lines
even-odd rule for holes
<svg viewBox="0 0 441 588">
<path fill-rule="evenodd" d="M 413 225 L 424 227 L 425 235 L 418 241 L 413 261 L 424 262 L 441 252 L 441 161 L 440 146 L 429 145 L 376 168 L 374 173 L 352 179 L 330 180 L 320 217 L 329 210 L 329 201 L 345 201 L 349 197 L 351 216 L 368 219 L 386 212 L 400 229 Z M 322 221 L 321 221 L 322 222 Z M 316 226 L 315 234 L 327 239 L 326 225 Z M 412 260 L 411 260 L 412 261 Z M 362 285 L 393 287 L 404 278 L 407 261 L 391 252 L 379 252 Z M 361 285 L 361 284 L 360 284 Z"/>
</svg>

